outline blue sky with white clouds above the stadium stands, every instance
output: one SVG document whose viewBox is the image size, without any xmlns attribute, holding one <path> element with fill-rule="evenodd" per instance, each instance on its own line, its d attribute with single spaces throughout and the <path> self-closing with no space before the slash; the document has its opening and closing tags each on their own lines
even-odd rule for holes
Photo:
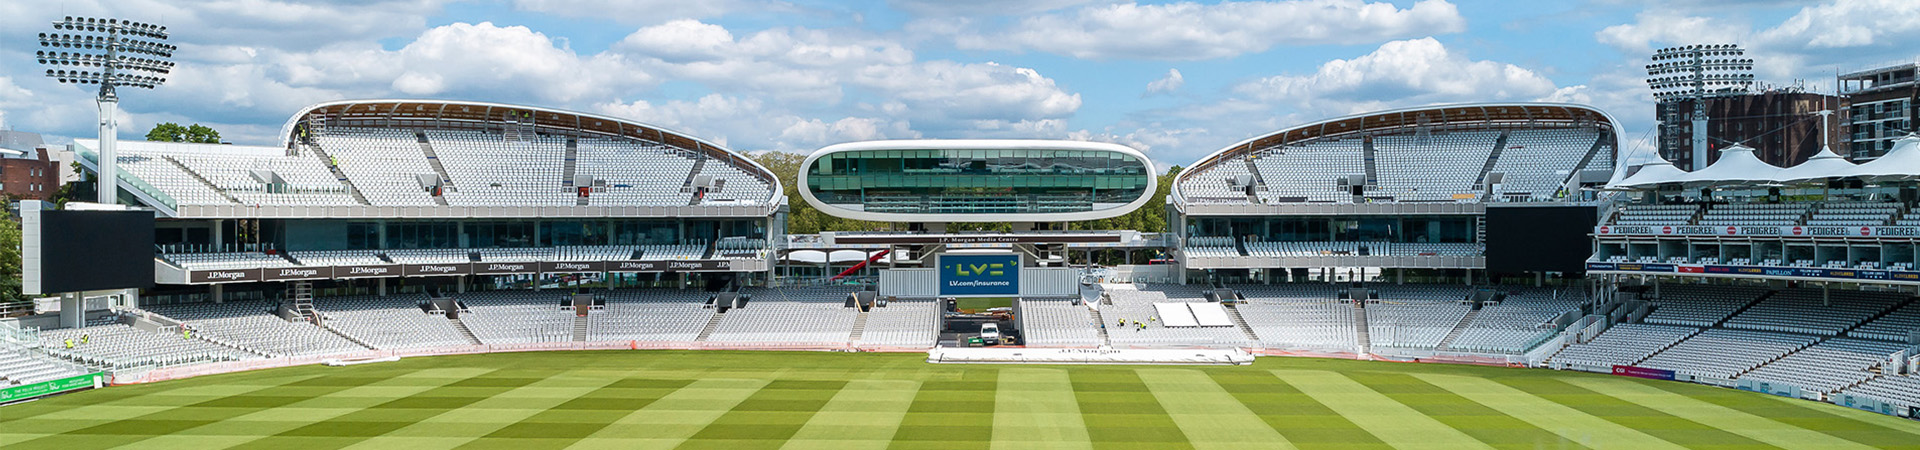
<svg viewBox="0 0 1920 450">
<path fill-rule="evenodd" d="M 0 123 L 90 137 L 90 92 L 31 63 L 60 15 L 173 27 L 179 71 L 123 137 L 205 123 L 269 144 L 340 98 L 536 104 L 735 150 L 868 138 L 1085 138 L 1190 163 L 1323 117 L 1580 102 L 1651 137 L 1651 48 L 1734 42 L 1774 85 L 1912 62 L 1912 0 L 65 0 L 0 2 Z"/>
</svg>

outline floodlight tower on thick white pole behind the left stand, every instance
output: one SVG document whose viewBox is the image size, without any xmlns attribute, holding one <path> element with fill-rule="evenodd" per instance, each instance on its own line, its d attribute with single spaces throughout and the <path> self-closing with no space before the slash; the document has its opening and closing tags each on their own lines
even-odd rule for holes
<svg viewBox="0 0 1920 450">
<path fill-rule="evenodd" d="M 173 73 L 173 50 L 167 44 L 167 27 L 98 17 L 71 17 L 54 21 L 54 33 L 40 33 L 40 46 L 35 60 L 46 69 L 46 77 L 60 83 L 98 85 L 100 94 L 100 183 L 98 202 L 119 202 L 119 152 L 113 150 L 119 123 L 113 121 L 119 108 L 115 87 L 156 88 L 167 83 Z"/>
</svg>

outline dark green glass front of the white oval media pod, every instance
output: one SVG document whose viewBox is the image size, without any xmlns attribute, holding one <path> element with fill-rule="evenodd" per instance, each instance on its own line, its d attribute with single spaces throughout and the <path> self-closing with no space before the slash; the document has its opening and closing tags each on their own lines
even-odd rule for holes
<svg viewBox="0 0 1920 450">
<path fill-rule="evenodd" d="M 1139 200 L 1154 175 L 1104 150 L 852 150 L 814 160 L 804 188 L 856 212 L 1071 213 Z"/>
</svg>

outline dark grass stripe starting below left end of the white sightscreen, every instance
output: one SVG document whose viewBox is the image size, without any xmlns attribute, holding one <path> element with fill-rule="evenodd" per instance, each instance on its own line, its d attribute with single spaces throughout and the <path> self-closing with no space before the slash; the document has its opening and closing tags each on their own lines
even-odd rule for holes
<svg viewBox="0 0 1920 450">
<path fill-rule="evenodd" d="M 966 369 L 962 379 L 920 385 L 887 448 L 989 448 L 998 371 Z"/>
</svg>

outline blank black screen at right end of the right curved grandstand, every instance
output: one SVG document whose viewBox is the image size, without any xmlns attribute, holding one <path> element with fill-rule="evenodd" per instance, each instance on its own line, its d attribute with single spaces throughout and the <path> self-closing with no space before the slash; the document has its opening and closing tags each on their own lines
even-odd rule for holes
<svg viewBox="0 0 1920 450">
<path fill-rule="evenodd" d="M 1592 206 L 1488 206 L 1486 208 L 1486 269 L 1494 273 L 1521 271 L 1586 271 L 1594 254 Z"/>
</svg>

